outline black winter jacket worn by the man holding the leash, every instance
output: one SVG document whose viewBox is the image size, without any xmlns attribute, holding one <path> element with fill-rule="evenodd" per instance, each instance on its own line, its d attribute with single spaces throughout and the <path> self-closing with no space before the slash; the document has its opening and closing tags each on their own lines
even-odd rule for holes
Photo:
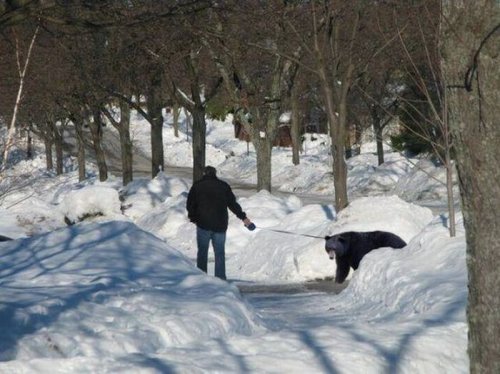
<svg viewBox="0 0 500 374">
<path fill-rule="evenodd" d="M 189 190 L 186 208 L 189 220 L 205 230 L 226 231 L 228 208 L 239 219 L 246 218 L 229 184 L 214 176 L 205 175 L 193 184 Z"/>
</svg>

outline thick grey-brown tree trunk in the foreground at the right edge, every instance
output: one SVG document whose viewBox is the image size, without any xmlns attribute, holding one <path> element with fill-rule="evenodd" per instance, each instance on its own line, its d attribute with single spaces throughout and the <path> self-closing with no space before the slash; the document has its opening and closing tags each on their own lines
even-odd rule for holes
<svg viewBox="0 0 500 374">
<path fill-rule="evenodd" d="M 442 4 L 443 65 L 467 241 L 470 372 L 500 373 L 500 3 Z"/>
</svg>

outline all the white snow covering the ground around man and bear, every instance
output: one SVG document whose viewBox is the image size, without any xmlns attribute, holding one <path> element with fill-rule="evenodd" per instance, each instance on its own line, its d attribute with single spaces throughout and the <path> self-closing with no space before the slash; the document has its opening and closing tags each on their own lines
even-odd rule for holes
<svg viewBox="0 0 500 374">
<path fill-rule="evenodd" d="M 132 118 L 149 152 L 149 125 Z M 171 120 L 165 160 L 189 167 L 188 122 L 175 138 Z M 233 135 L 230 118 L 208 121 L 207 164 L 255 183 L 255 152 Z M 274 149 L 273 194 L 235 190 L 257 229 L 230 214 L 222 281 L 212 251 L 208 274 L 196 268 L 189 178 L 124 187 L 90 165 L 79 183 L 75 159 L 55 176 L 38 150 L 26 161 L 20 145 L 0 181 L 0 235 L 14 239 L 0 242 L 0 373 L 468 372 L 462 216 L 450 238 L 444 170 L 425 158 L 387 148 L 378 166 L 364 139 L 337 214 L 328 137 L 306 134 L 297 166 Z M 372 251 L 335 287 L 322 237 L 373 230 L 408 245 Z"/>
</svg>

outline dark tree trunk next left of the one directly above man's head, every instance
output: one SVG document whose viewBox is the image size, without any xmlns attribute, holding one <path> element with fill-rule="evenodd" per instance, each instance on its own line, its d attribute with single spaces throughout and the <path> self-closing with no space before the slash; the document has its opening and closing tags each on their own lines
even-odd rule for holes
<svg viewBox="0 0 500 374">
<path fill-rule="evenodd" d="M 160 171 L 165 170 L 160 73 L 151 80 L 146 105 L 151 123 L 151 175 L 154 178 Z"/>
</svg>

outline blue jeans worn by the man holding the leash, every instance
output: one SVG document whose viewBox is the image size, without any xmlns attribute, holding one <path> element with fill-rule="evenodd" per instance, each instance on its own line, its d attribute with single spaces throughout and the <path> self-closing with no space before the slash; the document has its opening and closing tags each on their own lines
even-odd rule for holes
<svg viewBox="0 0 500 374">
<path fill-rule="evenodd" d="M 196 243 L 198 244 L 198 254 L 196 256 L 196 266 L 207 272 L 208 246 L 212 241 L 215 254 L 215 276 L 226 279 L 226 232 L 204 230 L 196 227 Z"/>
</svg>

